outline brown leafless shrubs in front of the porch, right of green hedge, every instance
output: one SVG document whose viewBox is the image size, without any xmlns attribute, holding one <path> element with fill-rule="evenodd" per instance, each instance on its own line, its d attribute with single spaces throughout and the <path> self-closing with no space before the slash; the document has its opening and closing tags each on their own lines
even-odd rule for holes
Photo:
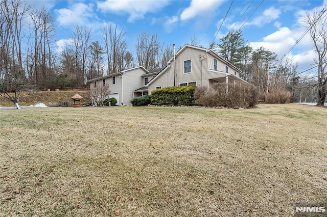
<svg viewBox="0 0 327 217">
<path fill-rule="evenodd" d="M 258 104 L 258 88 L 242 83 L 226 84 L 217 83 L 211 87 L 197 87 L 194 94 L 195 102 L 203 106 L 224 106 L 224 107 L 254 107 Z"/>
</svg>

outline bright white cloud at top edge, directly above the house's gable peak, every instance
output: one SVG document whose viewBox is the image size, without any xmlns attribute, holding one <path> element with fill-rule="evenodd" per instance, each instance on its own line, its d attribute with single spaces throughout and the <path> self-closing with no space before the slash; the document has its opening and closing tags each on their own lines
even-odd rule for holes
<svg viewBox="0 0 327 217">
<path fill-rule="evenodd" d="M 180 14 L 180 19 L 188 20 L 199 15 L 206 16 L 208 13 L 213 13 L 223 2 L 222 0 L 192 0 L 190 7 L 184 9 Z"/>
</svg>

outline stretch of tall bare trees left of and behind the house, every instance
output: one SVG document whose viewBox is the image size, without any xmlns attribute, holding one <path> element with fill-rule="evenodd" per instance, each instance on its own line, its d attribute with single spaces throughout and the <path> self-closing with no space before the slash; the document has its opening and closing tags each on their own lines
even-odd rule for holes
<svg viewBox="0 0 327 217">
<path fill-rule="evenodd" d="M 86 81 L 137 65 L 148 70 L 166 66 L 172 45 L 161 43 L 156 34 L 136 36 L 136 57 L 126 42 L 124 29 L 113 24 L 101 29 L 100 41 L 92 31 L 74 26 L 62 50 L 56 51 L 55 20 L 42 8 L 26 1 L 0 1 L 0 78 L 20 71 L 37 89 L 85 87 Z"/>
</svg>

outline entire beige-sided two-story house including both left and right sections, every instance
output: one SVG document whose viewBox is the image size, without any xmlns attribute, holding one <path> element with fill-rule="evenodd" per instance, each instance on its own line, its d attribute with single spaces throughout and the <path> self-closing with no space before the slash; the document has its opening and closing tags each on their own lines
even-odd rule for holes
<svg viewBox="0 0 327 217">
<path fill-rule="evenodd" d="M 88 80 L 90 88 L 109 84 L 110 98 L 119 105 L 130 105 L 130 101 L 158 88 L 171 86 L 211 86 L 214 83 L 245 82 L 240 78 L 241 70 L 220 57 L 211 49 L 184 45 L 165 68 L 148 71 L 143 66 Z"/>
</svg>

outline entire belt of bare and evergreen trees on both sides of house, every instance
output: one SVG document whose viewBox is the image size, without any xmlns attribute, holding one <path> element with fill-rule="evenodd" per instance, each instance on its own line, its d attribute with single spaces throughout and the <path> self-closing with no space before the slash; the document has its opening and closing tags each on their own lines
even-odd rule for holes
<svg viewBox="0 0 327 217">
<path fill-rule="evenodd" d="M 148 70 L 164 67 L 173 56 L 173 46 L 161 42 L 156 34 L 140 33 L 134 45 L 128 44 L 124 29 L 113 24 L 103 26 L 101 41 L 92 41 L 92 32 L 85 26 L 75 26 L 58 52 L 55 21 L 48 10 L 36 10 L 21 0 L 1 0 L 0 9 L 0 79 L 6 91 L 14 86 L 11 81 L 17 74 L 25 74 L 28 86 L 37 90 L 85 88 L 89 79 L 138 65 Z M 323 12 L 308 14 L 303 21 L 318 56 L 317 65 L 312 66 L 318 68 L 316 76 L 300 71 L 287 55 L 278 60 L 276 53 L 264 47 L 253 50 L 241 31 L 229 32 L 210 47 L 240 68 L 241 77 L 257 86 L 264 100 L 278 92 L 290 94 L 293 101 L 323 104 L 327 51 Z M 196 37 L 190 43 L 202 46 Z"/>
</svg>

